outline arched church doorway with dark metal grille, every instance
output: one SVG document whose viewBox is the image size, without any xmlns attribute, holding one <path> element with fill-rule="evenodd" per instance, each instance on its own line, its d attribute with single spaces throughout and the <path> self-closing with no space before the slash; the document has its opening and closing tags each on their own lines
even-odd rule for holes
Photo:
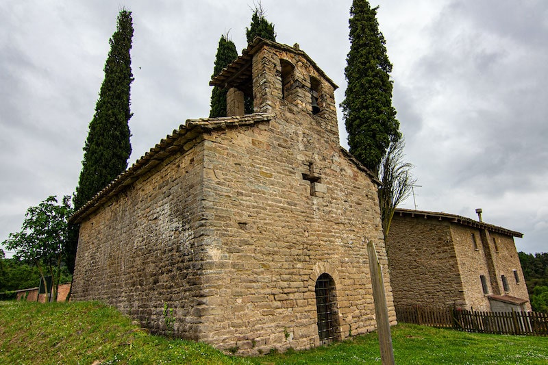
<svg viewBox="0 0 548 365">
<path fill-rule="evenodd" d="M 337 296 L 335 281 L 331 275 L 323 273 L 316 279 L 316 311 L 318 313 L 318 335 L 321 344 L 338 340 Z"/>
</svg>

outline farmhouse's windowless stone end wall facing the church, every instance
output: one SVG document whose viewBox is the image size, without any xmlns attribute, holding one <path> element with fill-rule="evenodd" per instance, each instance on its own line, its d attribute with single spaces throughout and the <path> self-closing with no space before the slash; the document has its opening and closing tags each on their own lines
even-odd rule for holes
<svg viewBox="0 0 548 365">
<path fill-rule="evenodd" d="M 449 223 L 394 215 L 386 240 L 396 306 L 464 304 Z"/>
</svg>

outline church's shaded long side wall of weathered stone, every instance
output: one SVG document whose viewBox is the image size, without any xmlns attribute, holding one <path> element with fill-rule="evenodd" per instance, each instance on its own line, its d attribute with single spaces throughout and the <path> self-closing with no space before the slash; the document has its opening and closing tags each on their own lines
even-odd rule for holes
<svg viewBox="0 0 548 365">
<path fill-rule="evenodd" d="M 72 299 L 101 300 L 166 331 L 199 338 L 203 151 L 176 153 L 80 227 Z"/>
</svg>

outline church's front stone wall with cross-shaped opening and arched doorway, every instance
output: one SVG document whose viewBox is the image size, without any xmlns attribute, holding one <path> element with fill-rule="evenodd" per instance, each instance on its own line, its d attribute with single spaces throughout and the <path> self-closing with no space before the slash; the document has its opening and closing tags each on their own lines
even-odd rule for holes
<svg viewBox="0 0 548 365">
<path fill-rule="evenodd" d="M 376 186 L 340 149 L 334 111 L 312 115 L 308 92 L 301 103 L 282 100 L 281 80 L 273 77 L 279 59 L 290 58 L 282 53 L 263 49 L 253 60 L 253 87 L 261 85 L 256 110 L 275 118 L 214 132 L 204 147 L 213 236 L 203 271 L 208 298 L 199 305 L 201 340 L 238 353 L 317 346 L 314 285 L 322 273 L 336 284 L 339 338 L 372 331 L 364 239 L 375 242 L 388 273 Z M 303 83 L 314 74 L 302 60 L 290 60 Z M 322 87 L 324 99 L 332 97 L 332 86 Z M 395 324 L 388 275 L 385 286 Z"/>
</svg>

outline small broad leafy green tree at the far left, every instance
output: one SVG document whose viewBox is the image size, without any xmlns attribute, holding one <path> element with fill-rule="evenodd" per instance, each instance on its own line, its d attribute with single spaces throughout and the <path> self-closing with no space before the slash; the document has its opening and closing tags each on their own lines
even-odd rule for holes
<svg viewBox="0 0 548 365">
<path fill-rule="evenodd" d="M 48 197 L 36 207 L 29 207 L 20 232 L 10 234 L 2 244 L 15 251 L 14 258 L 33 264 L 40 277 L 53 278 L 53 301 L 57 299 L 64 246 L 68 235 L 67 219 L 73 210 L 70 197 L 57 204 L 56 197 Z M 49 291 L 50 288 L 47 288 Z"/>
</svg>

